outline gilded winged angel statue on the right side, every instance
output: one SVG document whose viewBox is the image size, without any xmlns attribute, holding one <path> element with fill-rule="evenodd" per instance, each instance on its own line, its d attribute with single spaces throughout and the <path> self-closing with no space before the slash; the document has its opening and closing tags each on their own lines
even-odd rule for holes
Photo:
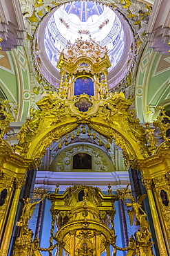
<svg viewBox="0 0 170 256">
<path fill-rule="evenodd" d="M 133 225 L 134 222 L 134 215 L 136 217 L 136 225 L 141 225 L 143 220 L 145 219 L 144 217 L 147 216 L 147 214 L 144 212 L 144 210 L 142 210 L 141 206 L 142 206 L 142 201 L 145 199 L 147 195 L 146 194 L 142 194 L 142 196 L 138 196 L 138 202 L 135 203 L 135 199 L 134 196 L 131 198 L 131 203 L 127 203 L 125 201 L 125 204 L 127 205 L 127 207 L 132 207 L 131 210 L 127 210 L 128 214 L 129 214 L 129 219 L 130 219 L 130 225 Z M 142 212 L 142 213 L 141 213 Z"/>
</svg>

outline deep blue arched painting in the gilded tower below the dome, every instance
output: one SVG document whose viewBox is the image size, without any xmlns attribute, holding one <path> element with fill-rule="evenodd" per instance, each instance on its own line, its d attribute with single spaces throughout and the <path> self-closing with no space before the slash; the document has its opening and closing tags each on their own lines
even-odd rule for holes
<svg viewBox="0 0 170 256">
<path fill-rule="evenodd" d="M 94 96 L 94 82 L 90 77 L 79 77 L 74 83 L 74 95 L 83 93 Z"/>
</svg>

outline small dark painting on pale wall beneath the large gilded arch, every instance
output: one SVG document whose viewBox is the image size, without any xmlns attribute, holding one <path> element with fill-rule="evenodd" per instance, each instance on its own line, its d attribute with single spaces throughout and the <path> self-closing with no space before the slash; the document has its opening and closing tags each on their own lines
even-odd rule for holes
<svg viewBox="0 0 170 256">
<path fill-rule="evenodd" d="M 92 169 L 92 156 L 78 153 L 73 156 L 73 169 Z"/>
</svg>

